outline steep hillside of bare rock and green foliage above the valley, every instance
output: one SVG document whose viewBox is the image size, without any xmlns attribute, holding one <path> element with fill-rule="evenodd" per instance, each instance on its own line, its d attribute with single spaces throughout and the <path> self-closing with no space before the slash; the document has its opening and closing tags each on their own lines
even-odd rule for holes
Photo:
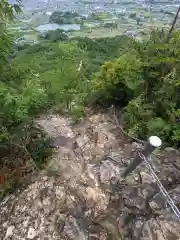
<svg viewBox="0 0 180 240">
<path fill-rule="evenodd" d="M 0 238 L 178 240 L 146 166 L 121 173 L 160 137 L 150 162 L 180 207 L 180 8 L 141 39 L 56 29 L 23 44 L 9 30 L 20 9 L 0 10 Z"/>
</svg>

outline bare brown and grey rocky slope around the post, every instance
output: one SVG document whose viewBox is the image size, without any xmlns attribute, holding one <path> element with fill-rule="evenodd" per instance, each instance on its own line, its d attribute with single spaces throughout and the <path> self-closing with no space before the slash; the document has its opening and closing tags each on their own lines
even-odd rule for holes
<svg viewBox="0 0 180 240">
<path fill-rule="evenodd" d="M 56 152 L 32 184 L 1 202 L 0 239 L 180 239 L 180 222 L 146 167 L 121 178 L 142 146 L 124 139 L 108 114 L 77 125 L 52 115 L 38 124 Z M 166 149 L 151 163 L 180 206 L 180 154 Z"/>
</svg>

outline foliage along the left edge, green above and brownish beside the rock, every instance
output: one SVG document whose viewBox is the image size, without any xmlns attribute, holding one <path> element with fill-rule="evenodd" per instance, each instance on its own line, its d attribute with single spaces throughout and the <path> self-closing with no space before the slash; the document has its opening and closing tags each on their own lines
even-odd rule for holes
<svg viewBox="0 0 180 240">
<path fill-rule="evenodd" d="M 0 2 L 0 177 L 4 181 L 0 199 L 50 154 L 48 138 L 31 119 L 31 113 L 42 106 L 45 92 L 37 79 L 31 79 L 31 69 L 12 60 L 13 38 L 6 24 L 17 11 L 19 5 Z"/>
</svg>

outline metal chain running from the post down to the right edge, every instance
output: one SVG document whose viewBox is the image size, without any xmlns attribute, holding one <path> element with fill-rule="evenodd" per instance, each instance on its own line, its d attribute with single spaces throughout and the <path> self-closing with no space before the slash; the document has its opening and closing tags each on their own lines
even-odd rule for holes
<svg viewBox="0 0 180 240">
<path fill-rule="evenodd" d="M 158 185 L 158 187 L 160 189 L 160 192 L 163 194 L 164 198 L 167 200 L 167 203 L 171 207 L 172 211 L 174 212 L 174 214 L 177 216 L 178 220 L 180 221 L 180 211 L 177 208 L 177 206 L 175 205 L 175 203 L 173 202 L 172 198 L 169 196 L 169 194 L 166 191 L 166 189 L 163 187 L 161 181 L 159 180 L 158 176 L 154 172 L 153 167 L 151 166 L 149 161 L 146 159 L 146 157 L 141 152 L 137 151 L 137 153 L 138 153 L 139 157 L 144 161 L 146 167 L 148 168 L 148 170 L 151 173 L 152 177 L 156 181 L 156 183 L 157 183 L 157 185 Z"/>
</svg>

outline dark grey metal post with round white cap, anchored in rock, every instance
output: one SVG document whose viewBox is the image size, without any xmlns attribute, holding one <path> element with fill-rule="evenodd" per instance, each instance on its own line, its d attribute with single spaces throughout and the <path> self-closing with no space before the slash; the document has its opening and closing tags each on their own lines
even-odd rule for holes
<svg viewBox="0 0 180 240">
<path fill-rule="evenodd" d="M 144 157 L 148 157 L 156 148 L 160 147 L 162 145 L 162 141 L 157 136 L 151 136 L 148 139 L 148 142 L 145 144 L 144 149 L 142 150 L 142 155 Z M 129 164 L 129 166 L 124 170 L 124 172 L 121 174 L 121 177 L 125 178 L 129 173 L 131 173 L 134 169 L 136 169 L 141 162 L 143 161 L 143 158 L 141 158 L 139 155 L 137 155 L 134 160 Z"/>
</svg>

